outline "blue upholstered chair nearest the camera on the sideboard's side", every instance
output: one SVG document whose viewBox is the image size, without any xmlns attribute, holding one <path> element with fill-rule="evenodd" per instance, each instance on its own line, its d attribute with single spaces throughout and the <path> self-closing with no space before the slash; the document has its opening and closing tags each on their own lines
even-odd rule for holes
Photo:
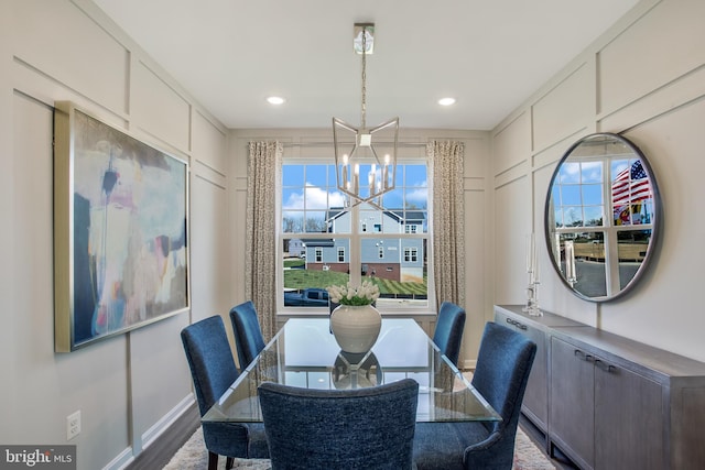
<svg viewBox="0 0 705 470">
<path fill-rule="evenodd" d="M 419 470 L 511 470 L 514 438 L 536 345 L 502 325 L 485 326 L 473 386 L 501 422 L 419 423 L 414 463 Z"/>
</svg>

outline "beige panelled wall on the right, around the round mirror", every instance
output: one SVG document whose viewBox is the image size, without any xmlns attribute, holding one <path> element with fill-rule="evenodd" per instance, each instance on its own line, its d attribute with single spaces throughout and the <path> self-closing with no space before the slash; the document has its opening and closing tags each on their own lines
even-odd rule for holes
<svg viewBox="0 0 705 470">
<path fill-rule="evenodd" d="M 563 153 L 588 133 L 620 132 L 644 152 L 660 186 L 664 228 L 655 260 L 628 296 L 595 304 L 561 284 L 540 244 L 540 305 L 705 361 L 705 254 L 697 249 L 705 234 L 703 18 L 701 0 L 641 2 L 492 132 L 496 303 L 524 302 L 523 237 L 533 227 L 543 241 L 545 195 Z"/>
</svg>

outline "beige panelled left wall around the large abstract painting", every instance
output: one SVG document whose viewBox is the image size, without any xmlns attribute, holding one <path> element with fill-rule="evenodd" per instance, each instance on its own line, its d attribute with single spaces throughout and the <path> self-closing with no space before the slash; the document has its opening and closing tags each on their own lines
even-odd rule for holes
<svg viewBox="0 0 705 470">
<path fill-rule="evenodd" d="M 87 0 L 0 2 L 0 442 L 76 444 L 79 469 L 120 468 L 193 404 L 180 339 L 227 315 L 227 131 Z M 74 101 L 191 163 L 188 313 L 54 353 L 53 105 Z M 226 253 L 226 255 L 224 255 Z M 229 321 L 229 320 L 228 320 Z M 82 433 L 66 442 L 66 416 Z"/>
</svg>

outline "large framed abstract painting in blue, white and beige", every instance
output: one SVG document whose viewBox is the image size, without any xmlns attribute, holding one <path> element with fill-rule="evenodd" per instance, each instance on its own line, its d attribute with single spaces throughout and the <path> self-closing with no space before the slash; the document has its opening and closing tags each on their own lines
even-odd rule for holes
<svg viewBox="0 0 705 470">
<path fill-rule="evenodd" d="M 188 308 L 187 164 L 73 103 L 54 113 L 55 350 Z"/>
</svg>

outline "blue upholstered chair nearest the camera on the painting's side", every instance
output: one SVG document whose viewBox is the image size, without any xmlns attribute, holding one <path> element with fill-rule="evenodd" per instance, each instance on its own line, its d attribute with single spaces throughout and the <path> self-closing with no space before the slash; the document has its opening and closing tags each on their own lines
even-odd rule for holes
<svg viewBox="0 0 705 470">
<path fill-rule="evenodd" d="M 238 378 L 223 318 L 216 315 L 187 326 L 181 331 L 191 368 L 200 416 Z M 226 468 L 232 457 L 269 458 L 262 424 L 203 423 L 203 437 L 208 449 L 208 470 L 215 470 L 218 456 L 226 456 Z"/>
</svg>

